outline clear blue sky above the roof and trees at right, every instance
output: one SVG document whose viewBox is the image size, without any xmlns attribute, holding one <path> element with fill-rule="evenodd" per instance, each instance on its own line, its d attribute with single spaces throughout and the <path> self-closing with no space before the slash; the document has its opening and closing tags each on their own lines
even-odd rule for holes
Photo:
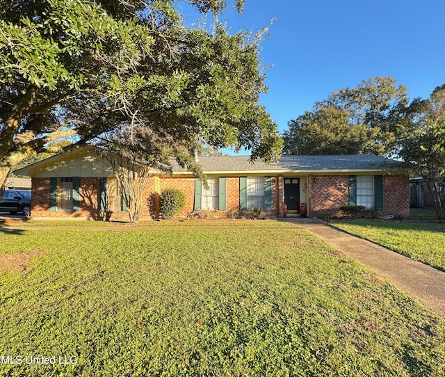
<svg viewBox="0 0 445 377">
<path fill-rule="evenodd" d="M 284 131 L 314 102 L 371 77 L 428 97 L 445 83 L 444 15 L 444 0 L 246 0 L 244 15 L 230 9 L 219 20 L 256 31 L 275 19 L 261 45 L 263 65 L 273 64 L 261 104 Z"/>
</svg>

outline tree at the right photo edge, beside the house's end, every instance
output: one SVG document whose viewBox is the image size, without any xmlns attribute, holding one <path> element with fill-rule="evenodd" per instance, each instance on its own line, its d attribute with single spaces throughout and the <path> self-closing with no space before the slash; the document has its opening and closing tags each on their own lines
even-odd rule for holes
<svg viewBox="0 0 445 377">
<path fill-rule="evenodd" d="M 410 125 L 400 151 L 413 175 L 421 175 L 435 202 L 437 219 L 445 217 L 445 85 L 428 99 L 414 99 Z"/>
</svg>

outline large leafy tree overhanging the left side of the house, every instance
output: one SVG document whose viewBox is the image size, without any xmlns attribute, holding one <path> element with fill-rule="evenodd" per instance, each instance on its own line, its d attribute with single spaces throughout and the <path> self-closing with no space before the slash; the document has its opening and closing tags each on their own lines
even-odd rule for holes
<svg viewBox="0 0 445 377">
<path fill-rule="evenodd" d="M 193 165 L 201 145 L 245 147 L 252 159 L 280 154 L 276 125 L 258 104 L 267 89 L 261 33 L 185 27 L 175 3 L 1 1 L 0 186 L 34 153 L 122 135 L 162 166 L 170 156 Z M 203 13 L 227 7 L 188 3 Z"/>
</svg>

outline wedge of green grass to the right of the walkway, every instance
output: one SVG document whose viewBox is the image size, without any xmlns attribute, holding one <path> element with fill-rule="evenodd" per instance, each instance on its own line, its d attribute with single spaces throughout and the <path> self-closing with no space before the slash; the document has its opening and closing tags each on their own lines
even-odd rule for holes
<svg viewBox="0 0 445 377">
<path fill-rule="evenodd" d="M 445 271 L 445 223 L 348 220 L 331 225 Z"/>
</svg>

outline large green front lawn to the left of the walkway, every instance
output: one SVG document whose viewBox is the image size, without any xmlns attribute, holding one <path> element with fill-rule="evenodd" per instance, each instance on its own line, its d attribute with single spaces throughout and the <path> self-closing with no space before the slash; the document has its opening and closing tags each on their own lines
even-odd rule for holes
<svg viewBox="0 0 445 377">
<path fill-rule="evenodd" d="M 6 376 L 443 376 L 445 323 L 298 230 L 1 232 Z"/>
</svg>

